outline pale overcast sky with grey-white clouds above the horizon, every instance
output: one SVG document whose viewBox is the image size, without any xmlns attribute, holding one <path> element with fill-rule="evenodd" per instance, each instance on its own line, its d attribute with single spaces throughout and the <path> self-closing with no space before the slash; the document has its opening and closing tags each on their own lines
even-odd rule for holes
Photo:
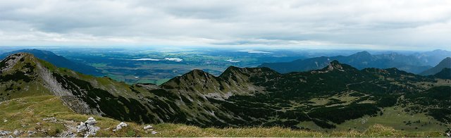
<svg viewBox="0 0 451 138">
<path fill-rule="evenodd" d="M 451 1 L 0 1 L 1 46 L 451 50 Z"/>
</svg>

